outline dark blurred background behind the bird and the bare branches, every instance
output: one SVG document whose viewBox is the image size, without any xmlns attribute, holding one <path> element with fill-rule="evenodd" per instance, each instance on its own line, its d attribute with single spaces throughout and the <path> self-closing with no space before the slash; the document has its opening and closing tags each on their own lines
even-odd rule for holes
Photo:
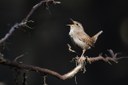
<svg viewBox="0 0 128 85">
<path fill-rule="evenodd" d="M 0 0 L 0 38 L 17 22 L 20 22 L 33 5 L 41 0 Z M 128 3 L 127 0 L 60 0 L 60 5 L 43 4 L 38 8 L 29 23 L 32 29 L 23 27 L 1 46 L 5 58 L 13 60 L 26 53 L 19 61 L 55 70 L 61 74 L 70 71 L 75 64 L 70 60 L 76 54 L 68 51 L 70 18 L 81 22 L 85 31 L 93 36 L 98 31 L 104 33 L 96 45 L 87 51 L 88 56 L 108 53 L 107 49 L 121 52 L 128 57 Z M 81 50 L 73 46 L 80 55 Z M 78 85 L 128 85 L 128 59 L 118 64 L 99 61 L 86 66 L 85 74 L 77 75 Z M 14 85 L 14 73 L 11 68 L 0 65 L 0 82 Z M 28 74 L 28 85 L 42 85 L 43 79 L 38 73 Z M 74 78 L 62 81 L 48 76 L 48 85 L 75 85 Z M 0 83 L 2 85 L 2 83 Z"/>
</svg>

